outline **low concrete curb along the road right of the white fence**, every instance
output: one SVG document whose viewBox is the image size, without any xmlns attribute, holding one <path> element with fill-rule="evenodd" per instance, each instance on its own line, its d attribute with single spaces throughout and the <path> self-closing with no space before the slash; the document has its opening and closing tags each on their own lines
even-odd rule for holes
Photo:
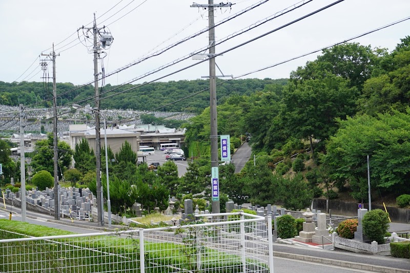
<svg viewBox="0 0 410 273">
<path fill-rule="evenodd" d="M 302 260 L 306 262 L 313 262 L 319 264 L 329 264 L 335 266 L 341 266 L 345 268 L 352 268 L 352 269 L 360 269 L 360 270 L 367 270 L 372 272 L 384 272 L 384 273 L 408 273 L 410 270 L 400 269 L 400 268 L 392 268 L 392 267 L 385 267 L 379 265 L 371 265 L 371 264 L 363 264 L 363 263 L 355 263 L 355 262 L 346 262 L 341 260 L 332 260 L 326 258 L 319 258 L 313 256 L 305 256 L 300 254 L 292 254 L 292 253 L 285 253 L 285 252 L 273 252 L 274 257 L 279 258 L 288 258 L 293 260 Z"/>
</svg>

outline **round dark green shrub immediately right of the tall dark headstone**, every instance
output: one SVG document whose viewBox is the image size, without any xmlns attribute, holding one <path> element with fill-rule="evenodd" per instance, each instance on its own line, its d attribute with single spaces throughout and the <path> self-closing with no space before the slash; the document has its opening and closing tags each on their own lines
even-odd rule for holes
<svg viewBox="0 0 410 273">
<path fill-rule="evenodd" d="M 380 209 L 367 212 L 363 216 L 363 233 L 371 241 L 384 243 L 384 236 L 389 228 L 388 213 Z"/>
</svg>

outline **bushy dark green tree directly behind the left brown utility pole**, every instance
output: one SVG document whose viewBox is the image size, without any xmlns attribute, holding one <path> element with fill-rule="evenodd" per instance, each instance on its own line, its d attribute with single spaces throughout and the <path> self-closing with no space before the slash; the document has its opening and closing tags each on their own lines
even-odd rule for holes
<svg viewBox="0 0 410 273">
<path fill-rule="evenodd" d="M 58 176 L 61 178 L 62 173 L 69 168 L 72 161 L 73 151 L 64 141 L 57 142 L 58 153 Z M 37 141 L 33 151 L 31 166 L 36 172 L 46 170 L 54 173 L 54 151 L 53 135 L 49 134 L 46 140 Z"/>
</svg>

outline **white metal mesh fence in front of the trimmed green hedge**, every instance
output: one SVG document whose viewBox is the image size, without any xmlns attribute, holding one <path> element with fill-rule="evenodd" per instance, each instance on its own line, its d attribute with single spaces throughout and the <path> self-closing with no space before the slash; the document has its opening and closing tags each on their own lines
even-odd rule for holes
<svg viewBox="0 0 410 273">
<path fill-rule="evenodd" d="M 0 238 L 0 272 L 273 273 L 271 217 L 241 212 L 156 229 Z"/>
</svg>

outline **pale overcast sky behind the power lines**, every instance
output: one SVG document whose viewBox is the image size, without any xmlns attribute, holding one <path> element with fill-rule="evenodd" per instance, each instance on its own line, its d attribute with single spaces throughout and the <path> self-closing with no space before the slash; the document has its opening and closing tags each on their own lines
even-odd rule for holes
<svg viewBox="0 0 410 273">
<path fill-rule="evenodd" d="M 314 0 L 296 11 L 217 45 L 216 53 L 267 33 L 333 2 Z M 232 3 L 236 3 L 232 9 L 222 8 L 215 11 L 215 22 L 259 3 L 259 1 L 238 0 Z M 215 30 L 217 40 L 296 3 L 296 1 L 270 0 L 217 27 Z M 198 2 L 198 4 L 206 4 L 206 1 Z M 50 53 L 49 48 L 53 42 L 56 44 L 56 53 L 60 54 L 56 59 L 57 82 L 71 82 L 77 85 L 92 81 L 93 55 L 87 49 L 87 46 L 91 44 L 90 41 L 84 40 L 84 36 L 81 37 L 83 34 L 81 30 L 79 35 L 82 43 L 79 43 L 76 31 L 83 25 L 91 26 L 89 23 L 93 20 L 94 12 L 97 18 L 101 16 L 97 19 L 98 27 L 108 26 L 106 30 L 109 30 L 114 37 L 111 49 L 105 50 L 107 57 L 104 58 L 104 66 L 108 73 L 139 59 L 154 48 L 160 50 L 206 28 L 208 10 L 191 8 L 190 5 L 192 2 L 185 0 L 0 1 L 0 24 L 2 26 L 0 49 L 3 53 L 0 81 L 42 81 L 40 77 L 43 73 L 40 71 L 39 60 L 36 60 L 36 57 L 41 53 Z M 115 14 L 116 12 L 118 13 Z M 126 13 L 128 14 L 125 15 Z M 120 18 L 121 16 L 124 17 Z M 410 16 L 410 1 L 408 0 L 345 0 L 292 26 L 225 53 L 216 59 L 216 63 L 223 74 L 239 76 L 323 48 L 407 16 Z M 400 38 L 410 34 L 409 29 L 410 20 L 407 20 L 355 41 L 363 45 L 370 44 L 372 47 L 387 48 L 391 51 L 400 42 Z M 66 38 L 68 39 L 65 40 Z M 161 65 L 198 51 L 207 44 L 208 34 L 204 33 L 160 56 L 108 77 L 106 83 L 114 85 L 129 81 Z M 308 60 L 316 59 L 317 55 L 313 54 L 294 60 L 273 69 L 249 75 L 247 78 L 288 78 L 290 72 L 297 66 L 304 65 Z M 34 64 L 30 66 L 33 62 Z M 165 71 L 137 80 L 136 83 L 154 80 L 195 62 L 197 61 L 190 58 Z M 208 62 L 204 62 L 160 81 L 198 79 L 209 75 L 208 66 Z M 28 71 L 24 73 L 27 69 Z M 33 73 L 30 74 L 31 72 Z M 50 76 L 51 73 L 50 64 Z M 23 76 L 19 77 L 22 74 Z M 220 75 L 220 72 L 217 72 L 217 75 Z"/>
</svg>

